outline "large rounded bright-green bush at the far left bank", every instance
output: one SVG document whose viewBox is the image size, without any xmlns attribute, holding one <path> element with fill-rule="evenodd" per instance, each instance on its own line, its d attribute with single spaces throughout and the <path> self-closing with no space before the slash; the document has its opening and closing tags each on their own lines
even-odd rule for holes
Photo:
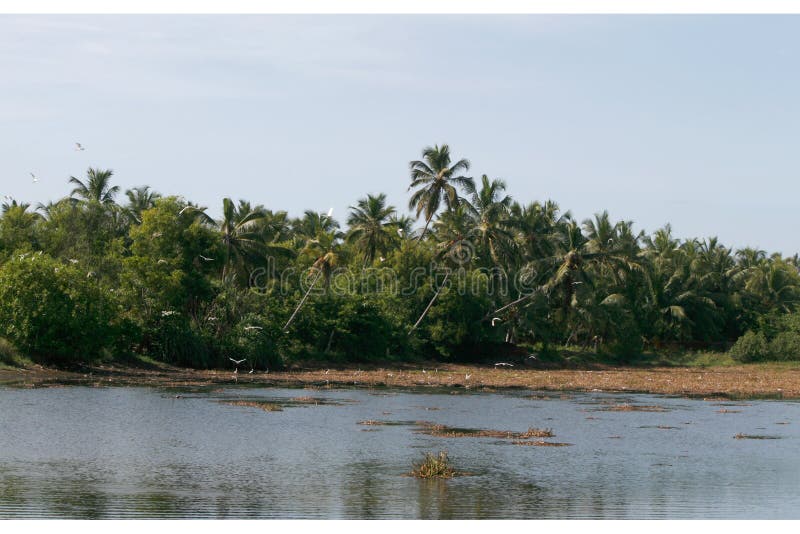
<svg viewBox="0 0 800 534">
<path fill-rule="evenodd" d="M 43 363 L 100 357 L 114 340 L 112 302 L 91 272 L 46 254 L 0 268 L 0 337 Z"/>
</svg>

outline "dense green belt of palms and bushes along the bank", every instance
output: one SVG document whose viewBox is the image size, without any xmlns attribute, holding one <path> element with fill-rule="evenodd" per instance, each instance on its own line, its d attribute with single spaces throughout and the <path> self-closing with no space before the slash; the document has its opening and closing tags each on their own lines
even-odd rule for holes
<svg viewBox="0 0 800 534">
<path fill-rule="evenodd" d="M 3 205 L 4 350 L 258 369 L 562 346 L 622 363 L 730 346 L 740 361 L 798 358 L 796 255 L 681 240 L 669 225 L 646 235 L 606 212 L 578 222 L 469 168 L 446 145 L 410 162 L 416 229 L 383 194 L 355 200 L 346 228 L 228 198 L 215 220 L 147 186 L 118 202 L 113 174 L 89 169 L 59 202 Z"/>
</svg>

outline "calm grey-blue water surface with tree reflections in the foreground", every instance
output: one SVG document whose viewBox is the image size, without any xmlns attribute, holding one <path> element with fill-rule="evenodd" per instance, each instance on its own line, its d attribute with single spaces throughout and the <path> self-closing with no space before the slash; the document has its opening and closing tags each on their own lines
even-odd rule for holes
<svg viewBox="0 0 800 534">
<path fill-rule="evenodd" d="M 800 403 L 458 393 L 0 387 L 0 517 L 800 518 Z M 220 402 L 302 396 L 321 402 Z M 572 445 L 367 419 L 551 428 Z M 443 449 L 472 475 L 404 476 Z"/>
</svg>

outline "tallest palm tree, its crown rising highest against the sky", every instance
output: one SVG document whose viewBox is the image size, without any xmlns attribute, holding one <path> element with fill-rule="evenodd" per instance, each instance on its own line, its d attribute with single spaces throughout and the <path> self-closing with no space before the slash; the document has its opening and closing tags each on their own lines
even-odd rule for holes
<svg viewBox="0 0 800 534">
<path fill-rule="evenodd" d="M 472 187 L 475 184 L 472 178 L 459 175 L 469 170 L 469 160 L 460 159 L 451 165 L 450 147 L 438 145 L 426 147 L 422 151 L 422 160 L 412 161 L 411 185 L 408 190 L 416 189 L 408 203 L 409 209 L 416 210 L 417 217 L 425 215 L 425 227 L 419 240 L 425 237 L 428 225 L 439 211 L 442 202 L 448 210 L 455 208 L 461 199 L 456 187 Z"/>
</svg>

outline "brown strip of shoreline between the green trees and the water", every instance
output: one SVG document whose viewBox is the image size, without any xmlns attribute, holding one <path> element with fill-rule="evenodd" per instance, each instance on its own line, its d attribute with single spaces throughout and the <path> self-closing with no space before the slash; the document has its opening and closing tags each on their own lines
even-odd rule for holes
<svg viewBox="0 0 800 534">
<path fill-rule="evenodd" d="M 800 365 L 750 364 L 726 367 L 603 367 L 591 370 L 493 368 L 432 364 L 370 369 L 305 369 L 234 374 L 229 370 L 196 370 L 96 365 L 82 371 L 41 366 L 0 369 L 0 387 L 66 385 L 203 387 L 391 387 L 459 388 L 491 392 L 603 391 L 701 397 L 800 399 Z"/>
</svg>

